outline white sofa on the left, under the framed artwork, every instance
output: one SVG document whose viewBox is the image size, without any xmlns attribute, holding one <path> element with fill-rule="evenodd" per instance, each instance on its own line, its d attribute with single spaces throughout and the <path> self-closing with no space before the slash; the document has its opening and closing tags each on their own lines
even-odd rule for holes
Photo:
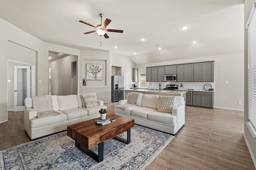
<svg viewBox="0 0 256 170">
<path fill-rule="evenodd" d="M 86 98 L 88 95 L 93 97 Z M 84 99 L 88 100 L 87 103 L 83 103 Z M 24 126 L 31 139 L 64 131 L 68 125 L 100 117 L 100 108 L 107 108 L 103 101 L 96 100 L 95 93 L 34 96 L 26 98 L 24 102 Z M 88 108 L 83 104 L 87 104 Z M 48 115 L 40 117 L 40 113 Z"/>
</svg>

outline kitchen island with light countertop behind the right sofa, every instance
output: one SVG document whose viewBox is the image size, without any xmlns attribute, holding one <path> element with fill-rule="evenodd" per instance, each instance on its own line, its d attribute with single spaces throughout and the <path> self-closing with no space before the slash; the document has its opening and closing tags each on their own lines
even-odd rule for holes
<svg viewBox="0 0 256 170">
<path fill-rule="evenodd" d="M 186 106 L 186 93 L 187 91 L 174 91 L 174 90 L 158 90 L 158 89 L 124 89 L 124 99 L 127 99 L 128 92 L 139 92 L 143 94 L 156 94 L 159 96 L 183 96 Z M 186 108 L 186 107 L 185 107 Z"/>
</svg>

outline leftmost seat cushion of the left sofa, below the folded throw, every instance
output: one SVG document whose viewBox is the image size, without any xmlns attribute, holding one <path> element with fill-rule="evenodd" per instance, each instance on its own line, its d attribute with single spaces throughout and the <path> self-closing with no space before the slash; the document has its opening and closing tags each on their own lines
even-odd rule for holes
<svg viewBox="0 0 256 170">
<path fill-rule="evenodd" d="M 45 126 L 45 125 L 51 125 L 54 123 L 59 123 L 62 121 L 66 121 L 67 120 L 67 115 L 64 113 L 61 113 L 60 111 L 58 111 L 60 114 L 56 115 L 56 116 L 48 116 L 48 117 L 43 117 L 43 118 L 32 118 L 30 119 L 30 125 L 31 127 L 40 127 L 40 126 Z"/>
</svg>

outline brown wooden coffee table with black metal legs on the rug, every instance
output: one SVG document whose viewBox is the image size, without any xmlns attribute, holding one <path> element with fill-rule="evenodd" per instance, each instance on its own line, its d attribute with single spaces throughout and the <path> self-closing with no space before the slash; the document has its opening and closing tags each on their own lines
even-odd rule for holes
<svg viewBox="0 0 256 170">
<path fill-rule="evenodd" d="M 134 119 L 110 114 L 107 117 L 116 121 L 106 125 L 95 123 L 95 119 L 69 125 L 67 134 L 76 141 L 76 147 L 84 151 L 97 162 L 103 160 L 104 142 L 115 138 L 129 144 L 131 141 L 131 128 L 134 127 Z M 127 131 L 127 139 L 117 137 Z M 98 154 L 90 149 L 98 145 Z"/>
</svg>

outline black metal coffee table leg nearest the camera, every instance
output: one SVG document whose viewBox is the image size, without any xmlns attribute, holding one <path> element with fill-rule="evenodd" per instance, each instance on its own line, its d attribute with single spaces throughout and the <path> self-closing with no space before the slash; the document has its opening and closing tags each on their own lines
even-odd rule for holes
<svg viewBox="0 0 256 170">
<path fill-rule="evenodd" d="M 86 147 L 80 145 L 77 142 L 76 142 L 76 147 L 78 147 L 84 153 L 88 154 L 88 156 L 90 156 L 97 162 L 101 162 L 103 160 L 104 142 L 101 142 L 98 144 L 98 154 L 92 152 L 91 150 L 87 149 Z"/>
</svg>

